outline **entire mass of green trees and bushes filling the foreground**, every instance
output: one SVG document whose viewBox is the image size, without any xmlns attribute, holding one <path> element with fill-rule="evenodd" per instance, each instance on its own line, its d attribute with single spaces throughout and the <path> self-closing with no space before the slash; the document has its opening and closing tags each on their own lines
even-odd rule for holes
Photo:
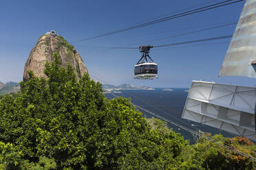
<svg viewBox="0 0 256 170">
<path fill-rule="evenodd" d="M 248 158 L 200 139 L 188 145 L 158 119 L 145 119 L 122 97 L 107 100 L 87 74 L 76 80 L 58 53 L 47 79 L 30 72 L 17 96 L 0 99 L 0 169 L 244 169 Z M 246 148 L 246 139 L 222 143 Z M 244 147 L 246 146 L 246 147 Z"/>
</svg>

